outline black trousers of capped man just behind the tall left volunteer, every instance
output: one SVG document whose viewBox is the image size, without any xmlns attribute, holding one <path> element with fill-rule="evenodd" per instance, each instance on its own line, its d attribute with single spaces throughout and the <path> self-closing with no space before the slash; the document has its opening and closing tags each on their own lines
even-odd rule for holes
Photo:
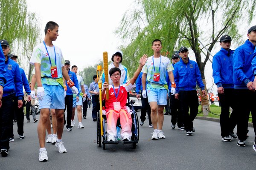
<svg viewBox="0 0 256 170">
<path fill-rule="evenodd" d="M 73 111 L 73 95 L 67 95 L 65 97 L 65 110 L 64 110 L 64 125 L 66 124 L 65 111 L 67 108 L 67 128 L 71 127 L 71 118 Z"/>
</svg>

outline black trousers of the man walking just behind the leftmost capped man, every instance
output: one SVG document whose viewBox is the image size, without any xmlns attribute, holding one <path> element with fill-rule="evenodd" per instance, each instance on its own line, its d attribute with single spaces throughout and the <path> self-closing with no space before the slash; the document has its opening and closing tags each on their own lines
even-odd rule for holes
<svg viewBox="0 0 256 170">
<path fill-rule="evenodd" d="M 25 105 L 25 101 L 24 98 L 22 98 L 22 102 L 23 105 L 21 106 L 21 108 L 18 108 L 18 98 L 15 96 L 15 100 L 14 100 L 15 104 L 14 104 L 14 112 L 13 115 L 16 115 L 16 120 L 17 120 L 17 132 L 19 135 L 23 135 L 24 133 L 24 105 Z M 12 126 L 12 131 L 11 131 L 11 138 L 14 137 L 14 133 L 13 133 L 13 126 Z"/>
</svg>

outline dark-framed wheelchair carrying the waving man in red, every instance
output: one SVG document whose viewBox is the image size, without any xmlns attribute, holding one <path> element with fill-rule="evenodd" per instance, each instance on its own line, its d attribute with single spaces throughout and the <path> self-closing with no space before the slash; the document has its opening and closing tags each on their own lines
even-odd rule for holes
<svg viewBox="0 0 256 170">
<path fill-rule="evenodd" d="M 128 103 L 126 104 L 131 110 L 132 110 L 132 114 L 131 114 L 131 119 L 132 119 L 132 127 L 131 127 L 131 141 L 122 141 L 124 144 L 132 144 L 133 148 L 136 149 L 136 144 L 139 142 L 139 134 L 140 134 L 140 130 L 139 130 L 139 119 L 138 119 L 138 115 L 136 113 L 136 111 L 134 110 L 134 106 L 133 104 L 135 103 L 134 100 L 129 100 L 128 99 Z M 100 121 L 100 112 L 97 113 L 97 144 L 99 144 L 99 147 L 101 147 L 101 145 L 103 145 L 103 149 L 106 149 L 106 144 L 118 144 L 121 141 L 109 141 L 108 142 L 108 136 L 107 136 L 107 131 L 106 131 L 106 116 L 102 115 L 102 129 L 101 129 L 101 121 Z M 120 128 L 122 128 L 120 126 L 120 122 L 119 119 L 116 122 L 116 125 L 119 126 Z M 103 135 L 102 135 L 103 132 Z"/>
</svg>

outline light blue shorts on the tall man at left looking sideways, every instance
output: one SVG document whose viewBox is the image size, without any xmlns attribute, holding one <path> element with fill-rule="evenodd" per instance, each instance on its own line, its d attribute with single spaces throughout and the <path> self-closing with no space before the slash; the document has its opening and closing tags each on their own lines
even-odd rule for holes
<svg viewBox="0 0 256 170">
<path fill-rule="evenodd" d="M 42 84 L 44 88 L 43 100 L 39 100 L 39 109 L 64 109 L 64 89 L 61 85 Z"/>
</svg>

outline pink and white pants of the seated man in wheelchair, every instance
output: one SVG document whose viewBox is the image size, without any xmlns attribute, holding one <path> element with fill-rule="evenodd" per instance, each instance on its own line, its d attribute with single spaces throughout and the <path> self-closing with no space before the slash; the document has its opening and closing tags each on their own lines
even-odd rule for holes
<svg viewBox="0 0 256 170">
<path fill-rule="evenodd" d="M 121 109 L 119 112 L 110 110 L 106 113 L 107 116 L 107 132 L 110 136 L 116 136 L 116 121 L 120 117 L 120 123 L 122 127 L 121 137 L 128 135 L 131 137 L 131 114 L 127 113 L 125 109 Z"/>
</svg>

